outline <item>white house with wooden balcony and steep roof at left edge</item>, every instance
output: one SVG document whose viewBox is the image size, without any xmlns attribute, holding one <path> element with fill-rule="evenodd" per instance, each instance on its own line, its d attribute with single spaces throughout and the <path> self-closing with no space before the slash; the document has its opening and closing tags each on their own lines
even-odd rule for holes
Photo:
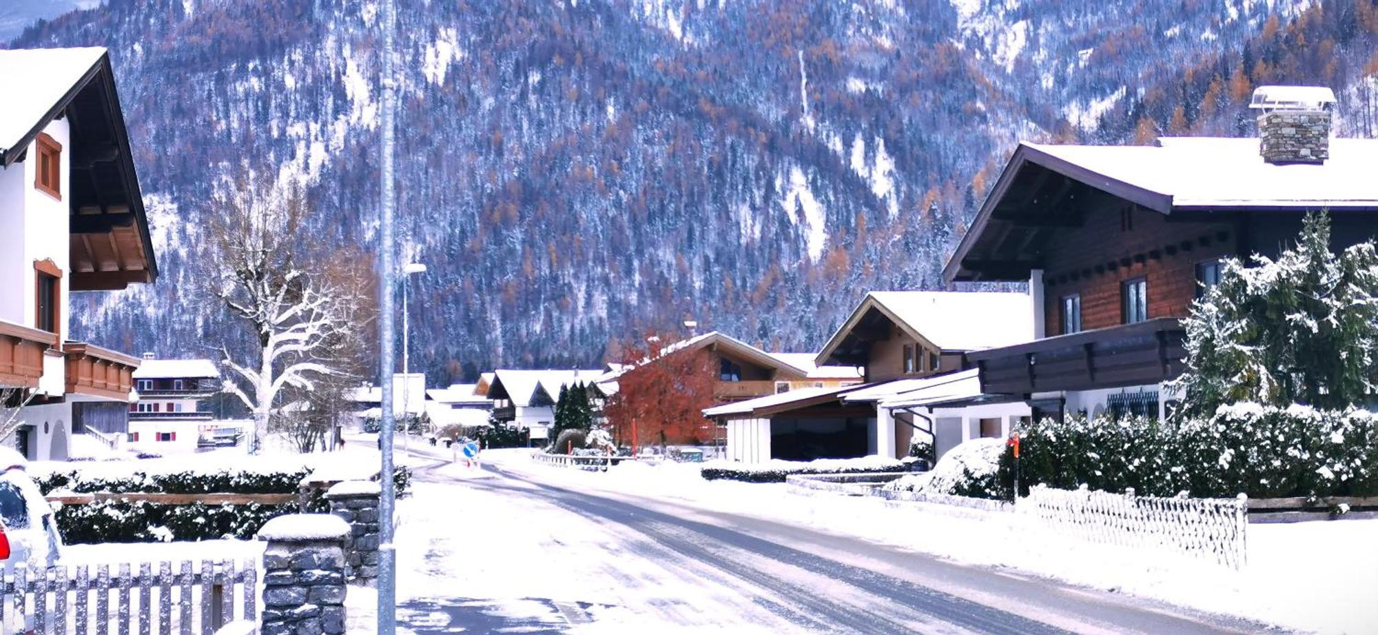
<svg viewBox="0 0 1378 635">
<path fill-rule="evenodd" d="M 0 51 L 0 389 L 19 450 L 62 460 L 72 433 L 124 436 L 139 366 L 68 338 L 69 294 L 152 283 L 157 262 L 106 51 Z"/>
</svg>

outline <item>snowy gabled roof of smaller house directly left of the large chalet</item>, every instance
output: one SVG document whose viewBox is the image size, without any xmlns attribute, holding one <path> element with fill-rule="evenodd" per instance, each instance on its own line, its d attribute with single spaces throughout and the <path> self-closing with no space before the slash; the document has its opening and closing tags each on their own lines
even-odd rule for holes
<svg viewBox="0 0 1378 635">
<path fill-rule="evenodd" d="M 858 362 L 875 323 L 889 322 L 940 351 L 978 351 L 1034 338 L 1029 297 L 1006 291 L 871 291 L 828 338 L 819 363 Z"/>
</svg>

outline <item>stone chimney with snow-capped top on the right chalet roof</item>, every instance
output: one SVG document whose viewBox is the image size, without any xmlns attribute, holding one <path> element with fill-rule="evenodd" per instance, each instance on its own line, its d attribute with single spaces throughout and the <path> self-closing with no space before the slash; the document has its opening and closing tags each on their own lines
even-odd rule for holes
<svg viewBox="0 0 1378 635">
<path fill-rule="evenodd" d="M 1335 94 L 1315 86 L 1259 86 L 1258 153 L 1268 163 L 1326 163 Z"/>
</svg>

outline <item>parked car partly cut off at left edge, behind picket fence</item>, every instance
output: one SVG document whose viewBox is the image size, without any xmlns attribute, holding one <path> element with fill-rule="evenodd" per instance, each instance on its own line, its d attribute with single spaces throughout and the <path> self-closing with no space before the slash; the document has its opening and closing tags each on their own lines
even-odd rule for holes
<svg viewBox="0 0 1378 635">
<path fill-rule="evenodd" d="M 18 457 L 14 453 L 12 457 Z M 25 471 L 25 462 L 0 456 L 0 565 L 6 572 L 19 563 L 47 567 L 62 555 L 62 536 L 52 507 Z"/>
</svg>

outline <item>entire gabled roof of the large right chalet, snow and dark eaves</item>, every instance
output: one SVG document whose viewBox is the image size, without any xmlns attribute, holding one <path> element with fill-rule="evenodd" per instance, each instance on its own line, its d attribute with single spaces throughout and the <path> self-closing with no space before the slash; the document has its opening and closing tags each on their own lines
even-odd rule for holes
<svg viewBox="0 0 1378 635">
<path fill-rule="evenodd" d="M 1166 137 L 1151 146 L 1020 144 L 943 273 L 948 280 L 978 277 L 963 264 L 981 253 L 978 240 L 995 240 L 1016 218 L 1025 224 L 1016 229 L 1031 232 L 1038 224 L 1021 218 L 1022 208 L 1076 207 L 1057 203 L 1078 195 L 1109 195 L 1160 214 L 1378 210 L 1378 139 L 1330 139 L 1330 159 L 1319 164 L 1268 163 L 1258 145 L 1257 138 L 1220 137 Z M 1027 269 L 1022 264 L 983 279 L 1027 279 Z"/>
</svg>

